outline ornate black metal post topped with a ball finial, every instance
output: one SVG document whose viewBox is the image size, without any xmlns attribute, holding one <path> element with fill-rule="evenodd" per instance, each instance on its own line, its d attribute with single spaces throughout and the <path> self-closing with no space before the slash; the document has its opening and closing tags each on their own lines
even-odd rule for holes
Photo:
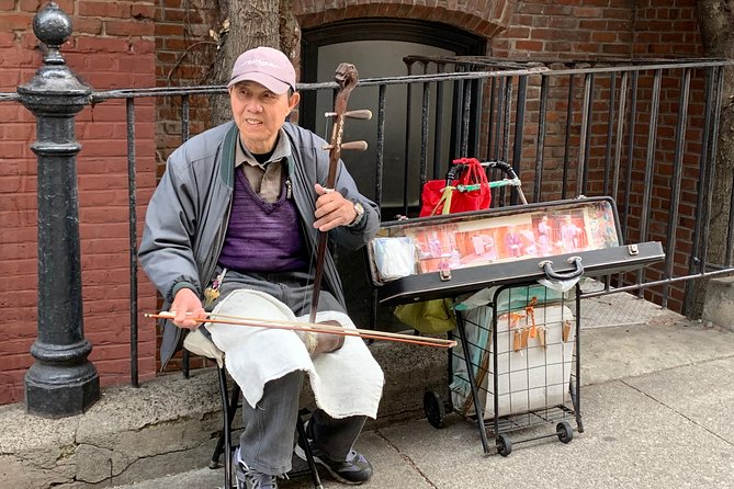
<svg viewBox="0 0 734 489">
<path fill-rule="evenodd" d="M 74 121 L 91 89 L 59 53 L 71 22 L 56 3 L 35 15 L 33 32 L 47 52 L 44 66 L 18 88 L 36 116 L 31 149 L 38 160 L 38 336 L 31 346 L 35 363 L 25 374 L 25 406 L 32 414 L 61 418 L 83 412 L 100 397 L 83 333 L 76 161 L 81 146 Z"/>
</svg>

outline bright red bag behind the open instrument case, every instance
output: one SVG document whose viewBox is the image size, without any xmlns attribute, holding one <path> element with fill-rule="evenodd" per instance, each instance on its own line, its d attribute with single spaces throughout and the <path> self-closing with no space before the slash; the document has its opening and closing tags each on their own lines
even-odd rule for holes
<svg viewBox="0 0 734 489">
<path fill-rule="evenodd" d="M 445 180 L 429 180 L 420 194 L 420 217 L 483 211 L 492 204 L 487 173 L 476 158 L 452 161 Z"/>
</svg>

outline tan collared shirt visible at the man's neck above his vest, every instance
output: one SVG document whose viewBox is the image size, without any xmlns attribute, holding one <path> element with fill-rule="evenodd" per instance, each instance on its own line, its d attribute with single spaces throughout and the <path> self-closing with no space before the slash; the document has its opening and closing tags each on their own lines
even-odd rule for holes
<svg viewBox="0 0 734 489">
<path fill-rule="evenodd" d="M 264 202 L 274 204 L 283 190 L 283 161 L 289 156 L 291 156 L 291 145 L 281 127 L 275 149 L 263 164 L 258 162 L 240 138 L 235 152 L 235 168 L 241 164 L 245 177 L 255 193 Z"/>
</svg>

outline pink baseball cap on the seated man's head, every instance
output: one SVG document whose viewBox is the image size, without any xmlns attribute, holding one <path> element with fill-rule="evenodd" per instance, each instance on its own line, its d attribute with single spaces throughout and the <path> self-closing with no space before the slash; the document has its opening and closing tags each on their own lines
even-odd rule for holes
<svg viewBox="0 0 734 489">
<path fill-rule="evenodd" d="M 227 87 L 245 80 L 257 81 L 273 93 L 285 93 L 295 90 L 295 69 L 280 50 L 256 47 L 239 55 Z"/>
</svg>

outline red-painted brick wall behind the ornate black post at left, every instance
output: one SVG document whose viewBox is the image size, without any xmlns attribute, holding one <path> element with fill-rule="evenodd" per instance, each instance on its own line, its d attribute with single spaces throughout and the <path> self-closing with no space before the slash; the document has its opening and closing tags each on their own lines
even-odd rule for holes
<svg viewBox="0 0 734 489">
<path fill-rule="evenodd" d="M 0 92 L 14 92 L 41 66 L 29 25 L 39 5 L 0 1 Z M 94 90 L 154 87 L 153 1 L 57 0 L 69 14 L 74 36 L 63 46 L 68 66 Z M 33 116 L 15 102 L 0 102 L 0 403 L 23 398 L 23 375 L 36 334 L 36 159 Z M 136 102 L 138 236 L 155 185 L 154 102 Z M 125 102 L 103 102 L 77 117 L 79 221 L 84 333 L 101 384 L 129 382 L 129 265 Z M 155 309 L 143 275 L 139 310 Z M 138 318 L 139 375 L 155 376 L 155 328 Z"/>
</svg>

